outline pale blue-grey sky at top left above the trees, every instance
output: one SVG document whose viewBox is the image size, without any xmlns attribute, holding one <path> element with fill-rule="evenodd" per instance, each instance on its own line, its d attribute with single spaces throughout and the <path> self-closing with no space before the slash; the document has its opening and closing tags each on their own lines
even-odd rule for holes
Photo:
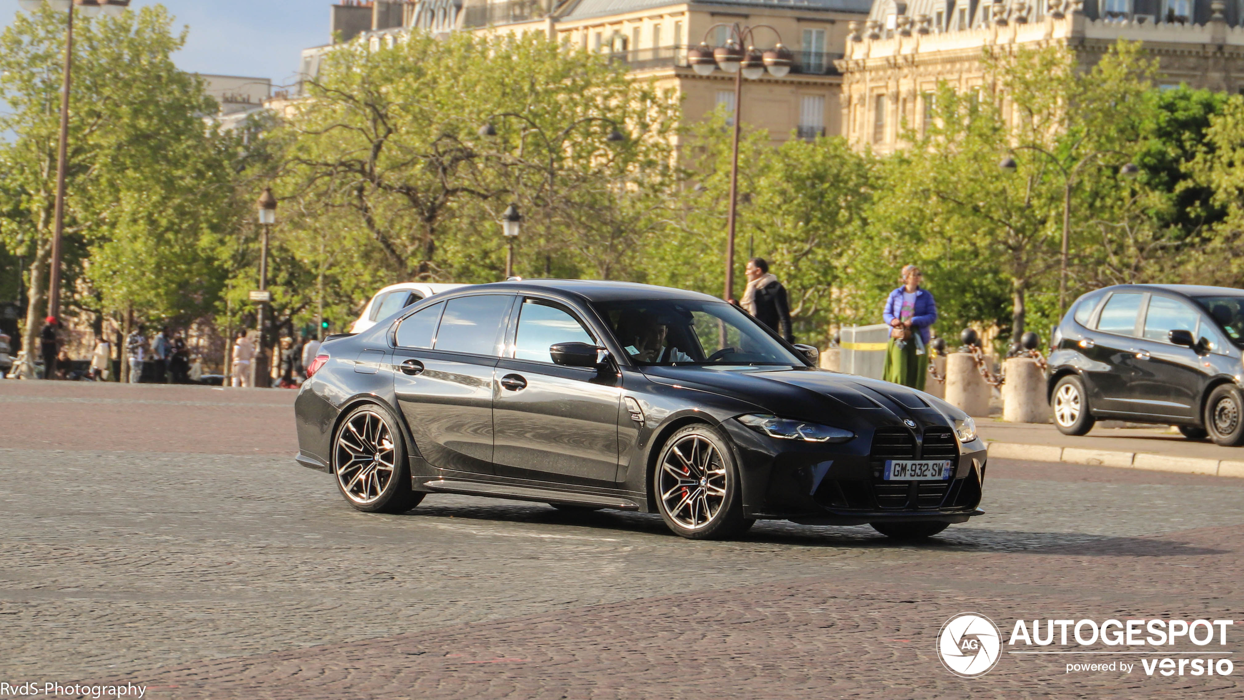
<svg viewBox="0 0 1244 700">
<path fill-rule="evenodd" d="M 197 73 L 271 78 L 290 85 L 300 52 L 328 42 L 328 7 L 333 0 L 162 0 L 175 17 L 174 27 L 189 25 L 178 67 Z M 133 0 L 132 7 L 156 5 Z M 17 12 L 17 0 L 0 0 L 5 26 Z"/>
</svg>

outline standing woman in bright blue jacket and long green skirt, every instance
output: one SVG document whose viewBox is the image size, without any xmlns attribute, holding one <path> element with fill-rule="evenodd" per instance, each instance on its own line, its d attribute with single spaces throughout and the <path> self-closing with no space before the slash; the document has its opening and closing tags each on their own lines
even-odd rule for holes
<svg viewBox="0 0 1244 700">
<path fill-rule="evenodd" d="M 933 293 L 921 287 L 923 279 L 919 267 L 903 267 L 903 283 L 889 292 L 882 316 L 889 326 L 882 378 L 921 390 L 928 374 L 929 327 L 937 321 L 937 303 Z"/>
</svg>

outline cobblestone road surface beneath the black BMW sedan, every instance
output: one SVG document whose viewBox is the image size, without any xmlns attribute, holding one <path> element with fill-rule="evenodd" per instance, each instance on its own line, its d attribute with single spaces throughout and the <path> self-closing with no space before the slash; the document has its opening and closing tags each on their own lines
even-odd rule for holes
<svg viewBox="0 0 1244 700">
<path fill-rule="evenodd" d="M 351 510 L 291 392 L 0 382 L 0 681 L 148 698 L 1240 698 L 1229 676 L 962 680 L 942 622 L 1234 619 L 1237 479 L 995 460 L 989 515 L 921 546 L 761 522 L 429 496 Z M 1244 629 L 1227 647 L 1239 655 Z M 1187 647 L 1173 649 L 1183 650 Z"/>
</svg>

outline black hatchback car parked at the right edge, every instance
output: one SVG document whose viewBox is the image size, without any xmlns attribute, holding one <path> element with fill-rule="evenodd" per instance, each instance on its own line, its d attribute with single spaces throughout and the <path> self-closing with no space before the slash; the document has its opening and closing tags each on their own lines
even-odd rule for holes
<svg viewBox="0 0 1244 700">
<path fill-rule="evenodd" d="M 1054 424 L 1096 419 L 1178 425 L 1189 439 L 1244 443 L 1244 291 L 1118 285 L 1076 300 L 1049 358 Z"/>
</svg>

